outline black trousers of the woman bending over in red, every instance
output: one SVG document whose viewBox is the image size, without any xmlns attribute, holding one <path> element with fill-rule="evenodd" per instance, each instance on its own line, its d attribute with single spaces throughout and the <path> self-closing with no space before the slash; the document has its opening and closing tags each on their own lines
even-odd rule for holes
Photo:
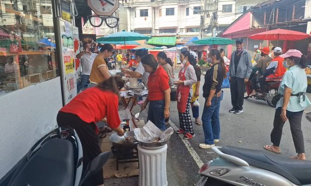
<svg viewBox="0 0 311 186">
<path fill-rule="evenodd" d="M 59 127 L 69 126 L 77 132 L 83 148 L 83 176 L 87 164 L 102 152 L 95 133 L 95 123 L 86 123 L 75 114 L 59 112 L 57 124 Z M 83 186 L 98 186 L 102 184 L 104 184 L 103 169 L 90 176 Z"/>
</svg>

